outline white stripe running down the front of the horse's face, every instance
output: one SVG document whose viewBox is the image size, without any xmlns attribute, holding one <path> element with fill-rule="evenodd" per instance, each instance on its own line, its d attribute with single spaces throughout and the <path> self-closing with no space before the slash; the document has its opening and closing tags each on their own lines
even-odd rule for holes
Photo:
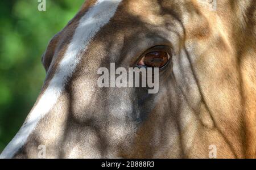
<svg viewBox="0 0 256 170">
<path fill-rule="evenodd" d="M 105 24 L 109 23 L 122 0 L 98 0 L 88 12 L 80 19 L 67 52 L 60 62 L 49 86 L 42 95 L 38 104 L 30 112 L 27 123 L 20 128 L 13 140 L 3 150 L 0 158 L 12 158 L 26 143 L 28 136 L 34 131 L 36 125 L 56 103 L 67 80 L 72 76 L 77 63 L 80 62 L 81 53 L 87 49 L 89 42 Z"/>
</svg>

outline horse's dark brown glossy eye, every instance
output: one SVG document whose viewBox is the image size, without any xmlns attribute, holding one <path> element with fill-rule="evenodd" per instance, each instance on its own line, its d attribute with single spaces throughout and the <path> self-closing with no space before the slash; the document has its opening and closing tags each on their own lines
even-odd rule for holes
<svg viewBox="0 0 256 170">
<path fill-rule="evenodd" d="M 138 62 L 138 66 L 146 67 L 163 67 L 169 61 L 170 55 L 167 52 L 150 52 L 142 57 Z"/>
</svg>

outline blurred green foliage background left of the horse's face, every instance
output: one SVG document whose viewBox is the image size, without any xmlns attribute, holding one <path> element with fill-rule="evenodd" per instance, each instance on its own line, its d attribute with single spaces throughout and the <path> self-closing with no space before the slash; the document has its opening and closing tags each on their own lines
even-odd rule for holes
<svg viewBox="0 0 256 170">
<path fill-rule="evenodd" d="M 0 152 L 35 103 L 46 75 L 41 56 L 84 0 L 0 1 Z"/>
</svg>

